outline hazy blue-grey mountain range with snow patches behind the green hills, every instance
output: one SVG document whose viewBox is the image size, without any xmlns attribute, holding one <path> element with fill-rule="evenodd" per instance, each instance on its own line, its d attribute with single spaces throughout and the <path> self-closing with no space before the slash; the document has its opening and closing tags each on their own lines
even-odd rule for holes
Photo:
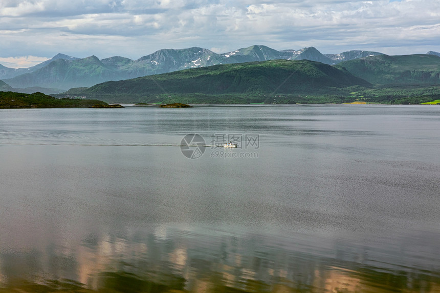
<svg viewBox="0 0 440 293">
<path fill-rule="evenodd" d="M 100 60 L 96 56 L 76 58 L 58 54 L 50 60 L 29 68 L 14 69 L 0 65 L 0 80 L 9 85 L 9 87 L 3 86 L 0 90 L 57 93 L 74 87 L 90 87 L 111 80 L 133 79 L 216 64 L 307 59 L 335 65 L 342 61 L 381 54 L 370 51 L 349 51 L 324 55 L 314 47 L 277 51 L 263 45 L 253 45 L 223 54 L 216 54 L 200 47 L 180 50 L 163 49 L 137 60 L 120 56 Z"/>
</svg>

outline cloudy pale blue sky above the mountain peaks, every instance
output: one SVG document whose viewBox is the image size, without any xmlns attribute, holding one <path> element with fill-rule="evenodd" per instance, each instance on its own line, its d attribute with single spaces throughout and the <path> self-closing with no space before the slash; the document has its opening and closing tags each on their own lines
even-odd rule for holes
<svg viewBox="0 0 440 293">
<path fill-rule="evenodd" d="M 0 64 L 58 53 L 136 60 L 163 48 L 251 45 L 322 54 L 440 52 L 438 0 L 1 0 Z"/>
</svg>

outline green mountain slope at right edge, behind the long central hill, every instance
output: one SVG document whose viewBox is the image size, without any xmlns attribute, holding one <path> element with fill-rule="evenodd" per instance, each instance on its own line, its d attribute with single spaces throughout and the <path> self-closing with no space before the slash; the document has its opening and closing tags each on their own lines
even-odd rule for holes
<svg viewBox="0 0 440 293">
<path fill-rule="evenodd" d="M 436 55 L 378 55 L 344 61 L 336 67 L 379 86 L 440 84 L 440 57 Z"/>
</svg>

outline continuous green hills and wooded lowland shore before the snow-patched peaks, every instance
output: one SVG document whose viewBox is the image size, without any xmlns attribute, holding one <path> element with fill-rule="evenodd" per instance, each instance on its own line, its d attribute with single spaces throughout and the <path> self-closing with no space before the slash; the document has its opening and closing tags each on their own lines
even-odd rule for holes
<svg viewBox="0 0 440 293">
<path fill-rule="evenodd" d="M 218 64 L 71 88 L 59 97 L 107 103 L 417 104 L 440 97 L 440 56 L 382 54 L 337 65 L 286 59 Z"/>
</svg>

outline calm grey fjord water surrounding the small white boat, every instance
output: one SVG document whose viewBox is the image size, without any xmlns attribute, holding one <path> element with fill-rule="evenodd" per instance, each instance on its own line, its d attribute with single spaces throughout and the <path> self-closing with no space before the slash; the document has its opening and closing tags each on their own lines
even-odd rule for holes
<svg viewBox="0 0 440 293">
<path fill-rule="evenodd" d="M 0 292 L 438 292 L 439 129 L 438 106 L 0 110 Z"/>
</svg>

